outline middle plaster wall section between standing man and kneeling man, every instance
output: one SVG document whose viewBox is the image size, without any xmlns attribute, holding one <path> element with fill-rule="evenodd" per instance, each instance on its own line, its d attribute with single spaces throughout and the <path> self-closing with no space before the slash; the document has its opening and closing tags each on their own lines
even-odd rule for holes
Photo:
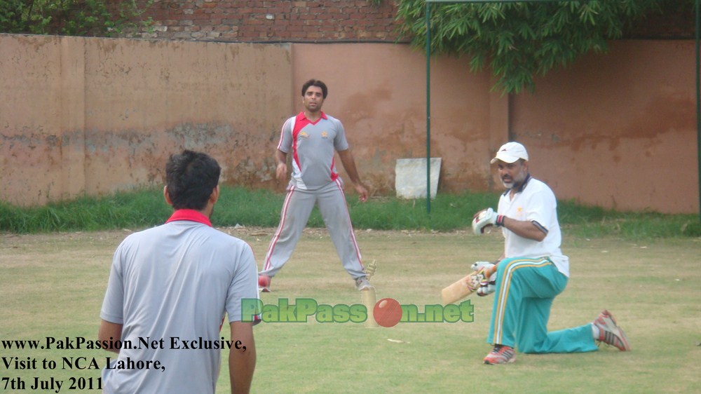
<svg viewBox="0 0 701 394">
<path fill-rule="evenodd" d="M 426 157 L 426 57 L 365 43 L 296 44 L 293 58 L 295 86 L 311 76 L 327 83 L 324 108 L 343 121 L 360 172 L 378 193 L 391 193 L 396 159 Z M 489 168 L 475 157 L 489 151 L 490 133 L 507 138 L 490 118 L 492 111 L 505 117 L 505 108 L 494 108 L 489 74 L 471 74 L 464 60 L 441 58 L 431 75 L 430 149 L 442 157 L 442 190 L 484 189 Z"/>
</svg>

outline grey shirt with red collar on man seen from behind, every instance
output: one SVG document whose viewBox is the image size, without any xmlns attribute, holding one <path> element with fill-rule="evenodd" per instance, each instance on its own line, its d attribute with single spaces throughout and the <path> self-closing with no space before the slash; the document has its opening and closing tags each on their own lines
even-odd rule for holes
<svg viewBox="0 0 701 394">
<path fill-rule="evenodd" d="M 158 360 L 163 370 L 103 369 L 104 393 L 215 393 L 221 350 L 184 349 L 182 341 L 221 341 L 224 313 L 240 321 L 242 298 L 258 298 L 253 251 L 199 212 L 177 210 L 166 224 L 125 238 L 100 318 L 122 324 L 121 340 L 132 348 L 114 355 L 112 367 Z M 152 348 L 139 338 L 163 342 Z"/>
</svg>

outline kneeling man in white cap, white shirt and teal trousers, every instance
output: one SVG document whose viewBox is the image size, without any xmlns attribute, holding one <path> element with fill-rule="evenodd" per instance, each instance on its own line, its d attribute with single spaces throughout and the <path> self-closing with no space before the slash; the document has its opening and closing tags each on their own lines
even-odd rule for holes
<svg viewBox="0 0 701 394">
<path fill-rule="evenodd" d="M 507 191 L 497 212 L 477 212 L 472 229 L 477 235 L 486 226 L 500 226 L 504 253 L 496 277 L 482 285 L 480 295 L 494 291 L 494 308 L 487 342 L 494 349 L 485 364 L 515 360 L 515 346 L 523 353 L 578 353 L 597 350 L 596 341 L 629 351 L 628 340 L 613 316 L 603 311 L 591 323 L 547 332 L 550 306 L 569 278 L 569 259 L 560 251 L 562 236 L 557 201 L 550 187 L 529 174 L 529 156 L 518 142 L 504 144 L 491 163 Z M 482 268 L 485 269 L 485 268 Z"/>
</svg>

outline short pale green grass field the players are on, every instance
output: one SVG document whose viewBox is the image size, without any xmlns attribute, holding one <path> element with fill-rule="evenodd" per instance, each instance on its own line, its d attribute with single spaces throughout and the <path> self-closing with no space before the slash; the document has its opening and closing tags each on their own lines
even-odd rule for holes
<svg viewBox="0 0 701 394">
<path fill-rule="evenodd" d="M 247 240 L 259 264 L 272 229 L 223 229 Z M 128 231 L 0 234 L 0 341 L 54 337 L 94 339 L 111 254 Z M 377 299 L 440 304 L 440 289 L 475 260 L 494 259 L 501 237 L 467 231 L 357 231 L 365 262 L 378 262 Z M 507 366 L 486 366 L 491 297 L 471 299 L 474 322 L 261 323 L 255 329 L 258 362 L 253 393 L 698 393 L 701 392 L 700 238 L 634 241 L 613 236 L 565 235 L 572 276 L 554 302 L 550 329 L 589 322 L 603 308 L 628 334 L 632 351 L 615 348 L 569 355 L 517 354 Z M 306 231 L 292 259 L 273 280 L 265 304 L 313 298 L 319 304 L 359 304 L 360 294 L 341 269 L 323 230 Z M 391 341 L 390 341 L 391 340 Z M 34 377 L 93 381 L 97 369 L 62 369 L 62 358 L 95 358 L 101 350 L 2 348 L 12 362 L 36 359 L 36 369 L 0 364 L 0 379 Z M 17 359 L 15 359 L 15 357 Z M 55 360 L 57 367 L 42 367 Z M 31 367 L 31 365 L 28 365 Z M 217 393 L 227 393 L 224 360 Z M 83 380 L 83 382 L 86 382 Z M 72 390 L 97 393 L 98 390 Z M 55 390 L 43 391 L 46 393 Z"/>
</svg>

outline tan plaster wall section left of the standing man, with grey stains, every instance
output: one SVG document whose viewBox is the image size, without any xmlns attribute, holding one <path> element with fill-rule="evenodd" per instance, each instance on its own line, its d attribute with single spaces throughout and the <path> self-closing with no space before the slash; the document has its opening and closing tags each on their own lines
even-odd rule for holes
<svg viewBox="0 0 701 394">
<path fill-rule="evenodd" d="M 0 36 L 1 198 L 43 204 L 163 181 L 180 149 L 224 182 L 271 179 L 291 108 L 287 45 Z"/>
</svg>

